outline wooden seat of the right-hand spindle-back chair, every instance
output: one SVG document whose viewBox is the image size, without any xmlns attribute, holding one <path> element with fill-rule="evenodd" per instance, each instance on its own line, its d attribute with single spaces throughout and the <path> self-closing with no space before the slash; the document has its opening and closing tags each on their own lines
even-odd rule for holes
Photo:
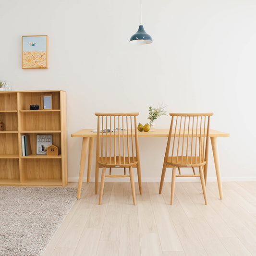
<svg viewBox="0 0 256 256">
<path fill-rule="evenodd" d="M 199 160 L 199 157 L 196 157 L 196 164 L 195 164 L 195 157 L 192 157 L 192 164 L 191 164 L 191 157 L 168 157 L 166 162 L 170 166 L 177 166 L 177 167 L 199 167 L 206 164 L 206 161 Z"/>
</svg>

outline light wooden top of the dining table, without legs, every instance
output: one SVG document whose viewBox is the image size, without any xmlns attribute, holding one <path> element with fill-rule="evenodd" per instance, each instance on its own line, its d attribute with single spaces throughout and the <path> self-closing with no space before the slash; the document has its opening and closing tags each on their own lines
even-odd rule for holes
<svg viewBox="0 0 256 256">
<path fill-rule="evenodd" d="M 81 131 L 78 131 L 74 134 L 71 134 L 71 137 L 78 137 L 78 138 L 83 138 L 83 137 L 97 137 L 97 133 L 92 132 L 93 129 L 83 129 Z M 168 137 L 170 129 L 156 129 L 156 131 L 149 131 L 149 132 L 139 132 L 138 131 L 138 137 Z M 202 130 L 202 134 L 203 134 Z M 122 134 L 122 132 L 120 132 Z M 131 136 L 131 131 L 128 130 L 129 136 Z M 134 134 L 134 131 L 133 131 Z M 183 129 L 181 134 L 183 135 Z M 192 136 L 192 129 L 185 129 L 185 134 L 184 136 L 187 137 L 187 134 L 189 134 L 189 137 Z M 109 135 L 109 134 L 108 134 Z M 196 129 L 194 129 L 193 136 L 196 135 Z M 210 137 L 229 137 L 230 134 L 224 133 L 224 132 L 219 132 L 216 130 L 210 129 L 209 131 Z M 111 136 L 113 136 L 113 133 L 111 133 Z M 118 133 L 116 133 L 116 136 L 118 136 Z M 124 132 L 124 136 L 126 136 L 126 132 Z M 172 130 L 172 137 L 174 136 L 174 130 Z M 179 134 L 176 134 L 176 136 L 179 136 Z M 200 129 L 197 131 L 197 137 L 200 137 Z"/>
</svg>

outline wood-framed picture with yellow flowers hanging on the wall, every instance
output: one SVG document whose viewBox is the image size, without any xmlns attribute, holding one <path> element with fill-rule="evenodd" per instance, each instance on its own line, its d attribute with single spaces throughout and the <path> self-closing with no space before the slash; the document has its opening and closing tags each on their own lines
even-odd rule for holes
<svg viewBox="0 0 256 256">
<path fill-rule="evenodd" d="M 22 68 L 48 68 L 48 36 L 22 37 Z"/>
</svg>

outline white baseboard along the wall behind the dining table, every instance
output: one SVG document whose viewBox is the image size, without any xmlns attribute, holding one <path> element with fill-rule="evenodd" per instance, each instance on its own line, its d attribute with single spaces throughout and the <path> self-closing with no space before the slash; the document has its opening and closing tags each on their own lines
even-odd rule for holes
<svg viewBox="0 0 256 256">
<path fill-rule="evenodd" d="M 90 181 L 94 182 L 95 178 L 91 177 Z M 100 180 L 100 179 L 99 179 Z M 255 182 L 256 177 L 222 177 L 223 182 Z M 69 182 L 78 182 L 78 177 L 69 177 Z M 106 178 L 105 182 L 129 182 L 129 178 Z M 134 181 L 138 182 L 137 177 L 134 177 Z M 171 177 L 166 177 L 165 182 L 171 182 Z M 190 177 L 177 177 L 176 182 L 199 182 L 200 178 L 190 178 Z M 217 182 L 216 177 L 207 177 L 208 182 Z M 83 182 L 86 182 L 86 177 L 84 177 Z M 142 182 L 160 182 L 159 178 L 142 178 Z"/>
</svg>

